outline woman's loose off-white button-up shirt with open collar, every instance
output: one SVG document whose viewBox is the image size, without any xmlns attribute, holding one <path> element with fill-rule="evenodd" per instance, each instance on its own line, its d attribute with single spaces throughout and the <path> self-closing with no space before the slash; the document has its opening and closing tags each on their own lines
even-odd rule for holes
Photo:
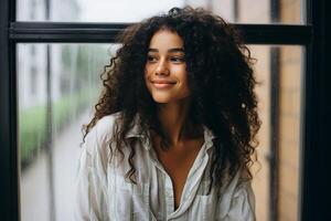
<svg viewBox="0 0 331 221">
<path fill-rule="evenodd" d="M 76 220 L 255 220 L 255 198 L 250 181 L 241 172 L 222 191 L 210 185 L 213 135 L 204 128 L 204 144 L 188 175 L 180 206 L 174 209 L 173 185 L 149 141 L 141 141 L 135 125 L 127 138 L 135 138 L 136 181 L 126 181 L 129 148 L 113 154 L 109 140 L 117 115 L 103 117 L 89 131 L 82 149 L 76 189 Z M 218 193 L 217 193 L 218 192 Z"/>
</svg>

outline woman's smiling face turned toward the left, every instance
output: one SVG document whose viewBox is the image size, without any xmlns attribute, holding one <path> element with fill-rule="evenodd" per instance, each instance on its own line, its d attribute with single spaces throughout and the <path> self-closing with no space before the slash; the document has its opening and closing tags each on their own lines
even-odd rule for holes
<svg viewBox="0 0 331 221">
<path fill-rule="evenodd" d="M 145 66 L 145 82 L 157 103 L 172 103 L 190 95 L 182 39 L 169 30 L 151 38 Z"/>
</svg>

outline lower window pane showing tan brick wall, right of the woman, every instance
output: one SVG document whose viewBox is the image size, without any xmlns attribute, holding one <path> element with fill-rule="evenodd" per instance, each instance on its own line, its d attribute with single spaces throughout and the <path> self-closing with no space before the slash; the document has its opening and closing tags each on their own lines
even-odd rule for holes
<svg viewBox="0 0 331 221">
<path fill-rule="evenodd" d="M 257 220 L 298 220 L 301 167 L 301 46 L 250 45 L 261 128 L 252 168 Z"/>
</svg>

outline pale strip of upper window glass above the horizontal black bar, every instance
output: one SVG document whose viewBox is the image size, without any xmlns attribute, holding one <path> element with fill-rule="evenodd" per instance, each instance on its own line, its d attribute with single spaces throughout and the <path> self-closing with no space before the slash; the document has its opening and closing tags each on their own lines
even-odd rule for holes
<svg viewBox="0 0 331 221">
<path fill-rule="evenodd" d="M 17 6 L 20 21 L 137 22 L 173 7 L 191 6 L 209 9 L 228 22 L 302 23 L 301 0 L 18 0 Z"/>
</svg>

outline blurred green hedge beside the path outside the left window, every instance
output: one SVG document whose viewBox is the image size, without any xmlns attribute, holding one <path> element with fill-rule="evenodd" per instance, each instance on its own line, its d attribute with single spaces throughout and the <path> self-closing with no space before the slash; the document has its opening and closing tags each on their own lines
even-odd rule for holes
<svg viewBox="0 0 331 221">
<path fill-rule="evenodd" d="M 61 130 L 71 120 L 75 119 L 85 110 L 92 96 L 95 95 L 82 91 L 54 102 L 52 109 L 53 129 Z M 19 113 L 19 146 L 23 166 L 29 164 L 47 141 L 46 117 L 46 105 L 34 106 Z"/>
</svg>

